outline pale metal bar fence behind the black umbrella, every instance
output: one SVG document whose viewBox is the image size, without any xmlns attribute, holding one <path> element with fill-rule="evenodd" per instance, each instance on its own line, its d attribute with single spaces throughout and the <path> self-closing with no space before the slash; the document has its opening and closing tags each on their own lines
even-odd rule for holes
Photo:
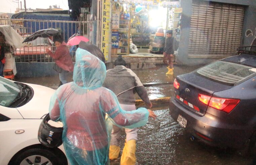
<svg viewBox="0 0 256 165">
<path fill-rule="evenodd" d="M 32 20 L 0 18 L 0 25 L 11 25 L 25 39 L 30 34 L 47 28 L 59 29 L 67 42 L 73 36 L 85 36 L 92 44 L 93 22 L 89 21 L 60 21 L 60 20 Z M 30 42 L 30 46 L 21 49 L 14 48 L 16 62 L 54 62 L 47 55 L 45 49 L 56 50 L 50 38 L 37 38 Z M 74 60 L 76 47 L 69 47 L 70 55 Z"/>
</svg>

